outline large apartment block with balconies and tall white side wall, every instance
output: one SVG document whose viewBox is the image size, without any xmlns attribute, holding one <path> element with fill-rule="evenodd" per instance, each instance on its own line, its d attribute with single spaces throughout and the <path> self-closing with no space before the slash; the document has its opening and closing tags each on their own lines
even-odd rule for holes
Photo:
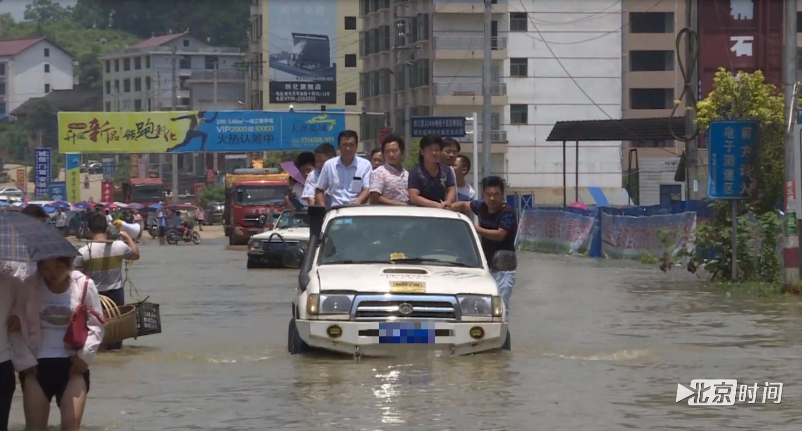
<svg viewBox="0 0 802 431">
<path fill-rule="evenodd" d="M 360 17 L 367 111 L 389 112 L 391 127 L 407 136 L 405 108 L 412 116 L 476 112 L 481 120 L 482 0 L 363 0 Z M 562 147 L 545 139 L 557 121 L 621 118 L 620 30 L 621 7 L 606 0 L 493 2 L 493 174 L 511 187 L 562 186 Z M 470 155 L 472 136 L 458 140 Z M 621 186 L 620 143 L 580 143 L 579 159 L 581 187 Z M 573 160 L 572 149 L 572 178 Z"/>
</svg>

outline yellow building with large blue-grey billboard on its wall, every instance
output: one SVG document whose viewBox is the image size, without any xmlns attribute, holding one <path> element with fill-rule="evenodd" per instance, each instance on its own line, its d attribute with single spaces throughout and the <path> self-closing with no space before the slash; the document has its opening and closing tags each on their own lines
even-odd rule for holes
<svg viewBox="0 0 802 431">
<path fill-rule="evenodd" d="M 351 113 L 346 127 L 360 130 L 359 0 L 259 2 L 252 29 L 261 22 L 261 48 L 251 57 L 262 65 L 262 109 L 343 109 Z"/>
</svg>

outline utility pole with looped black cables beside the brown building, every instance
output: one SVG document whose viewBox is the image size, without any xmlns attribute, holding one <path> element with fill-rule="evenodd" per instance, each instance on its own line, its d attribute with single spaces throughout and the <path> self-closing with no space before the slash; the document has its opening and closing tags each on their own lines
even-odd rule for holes
<svg viewBox="0 0 802 431">
<path fill-rule="evenodd" d="M 691 30 L 696 31 L 699 28 L 699 0 L 686 0 L 685 2 L 685 17 L 687 19 L 686 25 Z M 695 46 L 696 39 L 690 35 L 687 36 L 685 44 L 685 64 L 693 62 L 693 56 L 699 52 L 699 46 Z M 693 62 L 696 64 L 695 62 Z M 694 135 L 691 131 L 695 130 L 695 113 L 696 107 L 693 106 L 696 96 L 699 95 L 699 79 L 697 78 L 697 67 L 690 70 L 691 74 L 688 79 L 691 80 L 691 91 L 685 95 L 685 135 L 691 137 Z M 699 137 L 690 139 L 685 143 L 685 196 L 686 200 L 699 199 L 699 189 L 707 187 L 707 183 L 700 184 L 699 181 Z M 707 196 L 705 196 L 707 197 Z"/>
</svg>

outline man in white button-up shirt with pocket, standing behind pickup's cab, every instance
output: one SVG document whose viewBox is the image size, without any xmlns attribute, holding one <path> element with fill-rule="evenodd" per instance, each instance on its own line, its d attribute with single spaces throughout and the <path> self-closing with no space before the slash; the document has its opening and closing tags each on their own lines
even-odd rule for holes
<svg viewBox="0 0 802 431">
<path fill-rule="evenodd" d="M 355 131 L 341 131 L 337 137 L 340 155 L 323 165 L 315 184 L 315 203 L 326 204 L 325 194 L 331 195 L 330 205 L 361 205 L 371 194 L 371 162 L 356 156 L 358 135 Z"/>
</svg>

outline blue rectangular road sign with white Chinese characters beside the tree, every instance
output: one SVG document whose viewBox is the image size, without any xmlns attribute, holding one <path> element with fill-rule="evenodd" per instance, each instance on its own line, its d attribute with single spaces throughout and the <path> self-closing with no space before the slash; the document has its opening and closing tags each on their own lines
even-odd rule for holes
<svg viewBox="0 0 802 431">
<path fill-rule="evenodd" d="M 711 199 L 743 199 L 755 185 L 758 123 L 715 121 L 710 124 L 709 182 Z"/>
</svg>

